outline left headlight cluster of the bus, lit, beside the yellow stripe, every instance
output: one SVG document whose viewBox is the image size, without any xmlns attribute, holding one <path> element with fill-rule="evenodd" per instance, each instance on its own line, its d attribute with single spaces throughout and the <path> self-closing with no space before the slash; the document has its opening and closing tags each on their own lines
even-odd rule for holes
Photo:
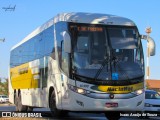
<svg viewBox="0 0 160 120">
<path fill-rule="evenodd" d="M 69 84 L 68 84 L 68 88 L 70 90 L 76 92 L 76 93 L 83 94 L 83 95 L 90 93 L 90 91 L 88 91 L 88 90 L 85 90 L 85 89 L 82 89 L 82 88 L 78 88 L 76 86 L 72 86 L 72 85 L 69 85 Z"/>
</svg>

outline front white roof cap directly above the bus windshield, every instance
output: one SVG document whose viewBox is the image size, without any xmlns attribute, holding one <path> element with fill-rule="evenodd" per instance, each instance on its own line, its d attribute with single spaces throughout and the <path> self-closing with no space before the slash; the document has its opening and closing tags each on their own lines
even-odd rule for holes
<svg viewBox="0 0 160 120">
<path fill-rule="evenodd" d="M 61 13 L 54 17 L 54 23 L 59 21 L 135 26 L 134 22 L 128 18 L 99 13 Z"/>
</svg>

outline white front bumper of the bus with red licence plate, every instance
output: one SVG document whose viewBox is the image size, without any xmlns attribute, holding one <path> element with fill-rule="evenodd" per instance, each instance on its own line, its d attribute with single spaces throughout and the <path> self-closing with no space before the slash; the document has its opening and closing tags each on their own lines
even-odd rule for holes
<svg viewBox="0 0 160 120">
<path fill-rule="evenodd" d="M 142 111 L 144 93 L 129 99 L 95 99 L 70 91 L 69 99 L 62 106 L 69 111 Z"/>
</svg>

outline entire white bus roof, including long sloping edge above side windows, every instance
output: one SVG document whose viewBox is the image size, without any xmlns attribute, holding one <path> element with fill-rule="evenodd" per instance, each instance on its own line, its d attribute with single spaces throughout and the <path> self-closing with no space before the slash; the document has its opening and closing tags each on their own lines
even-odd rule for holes
<svg viewBox="0 0 160 120">
<path fill-rule="evenodd" d="M 36 36 L 43 30 L 49 28 L 53 24 L 66 21 L 74 23 L 90 23 L 90 24 L 104 24 L 104 25 L 124 25 L 124 26 L 135 26 L 134 22 L 128 18 L 119 17 L 110 14 L 99 14 L 99 13 L 82 13 L 82 12 L 71 12 L 71 13 L 60 13 L 54 18 L 50 19 L 48 22 L 42 26 L 35 29 L 27 37 L 25 37 L 21 42 L 16 44 L 11 48 L 11 50 L 20 46 L 24 42 L 28 41 L 30 38 Z"/>
</svg>

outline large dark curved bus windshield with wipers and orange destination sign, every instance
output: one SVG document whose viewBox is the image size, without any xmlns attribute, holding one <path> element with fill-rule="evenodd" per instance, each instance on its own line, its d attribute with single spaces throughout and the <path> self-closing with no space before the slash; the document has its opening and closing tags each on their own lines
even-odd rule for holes
<svg viewBox="0 0 160 120">
<path fill-rule="evenodd" d="M 136 28 L 78 25 L 76 32 L 76 36 L 72 35 L 76 75 L 100 80 L 144 76 L 143 53 Z"/>
</svg>

